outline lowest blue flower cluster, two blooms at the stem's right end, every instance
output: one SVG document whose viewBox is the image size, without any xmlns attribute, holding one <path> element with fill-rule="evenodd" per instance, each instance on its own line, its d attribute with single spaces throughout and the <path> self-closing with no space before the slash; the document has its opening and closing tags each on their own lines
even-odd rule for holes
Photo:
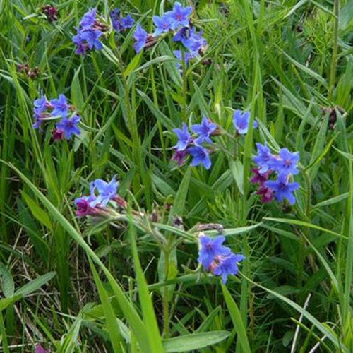
<svg viewBox="0 0 353 353">
<path fill-rule="evenodd" d="M 244 256 L 240 253 L 232 253 L 227 246 L 223 246 L 225 237 L 220 235 L 210 239 L 201 234 L 199 240 L 198 263 L 203 265 L 206 271 L 221 276 L 223 284 L 227 282 L 228 275 L 237 275 L 237 263 L 244 260 Z"/>
</svg>

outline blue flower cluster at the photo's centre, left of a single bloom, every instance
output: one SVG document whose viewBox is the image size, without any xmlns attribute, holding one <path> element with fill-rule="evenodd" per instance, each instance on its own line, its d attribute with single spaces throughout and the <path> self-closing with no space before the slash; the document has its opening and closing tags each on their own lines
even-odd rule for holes
<svg viewBox="0 0 353 353">
<path fill-rule="evenodd" d="M 210 169 L 211 160 L 209 150 L 205 148 L 205 144 L 212 144 L 210 136 L 215 134 L 217 125 L 207 118 L 203 117 L 201 124 L 191 125 L 191 131 L 196 135 L 191 136 L 188 126 L 183 123 L 182 128 L 174 128 L 174 133 L 177 134 L 178 142 L 174 146 L 174 155 L 172 160 L 177 161 L 179 166 L 183 164 L 184 158 L 191 155 L 191 165 L 196 167 L 203 164 L 205 169 Z"/>
</svg>

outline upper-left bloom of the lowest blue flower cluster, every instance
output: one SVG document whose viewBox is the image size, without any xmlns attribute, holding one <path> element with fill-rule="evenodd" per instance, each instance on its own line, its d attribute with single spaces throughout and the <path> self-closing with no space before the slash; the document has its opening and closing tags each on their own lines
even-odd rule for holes
<svg viewBox="0 0 353 353">
<path fill-rule="evenodd" d="M 225 241 L 225 237 L 221 235 L 215 237 L 215 239 L 201 235 L 199 240 L 201 248 L 198 251 L 198 263 L 201 263 L 205 270 L 208 270 L 216 256 L 228 256 L 231 253 L 227 246 L 222 245 Z"/>
</svg>

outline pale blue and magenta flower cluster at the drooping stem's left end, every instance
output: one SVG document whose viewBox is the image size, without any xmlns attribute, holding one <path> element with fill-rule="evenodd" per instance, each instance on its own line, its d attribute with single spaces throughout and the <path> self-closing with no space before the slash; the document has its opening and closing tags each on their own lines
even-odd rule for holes
<svg viewBox="0 0 353 353">
<path fill-rule="evenodd" d="M 121 208 L 126 207 L 126 202 L 123 198 L 117 195 L 119 183 L 115 177 L 107 182 L 102 179 L 96 179 L 90 183 L 90 195 L 76 198 L 76 215 L 103 215 L 107 212 L 107 205 L 111 202 Z"/>
</svg>

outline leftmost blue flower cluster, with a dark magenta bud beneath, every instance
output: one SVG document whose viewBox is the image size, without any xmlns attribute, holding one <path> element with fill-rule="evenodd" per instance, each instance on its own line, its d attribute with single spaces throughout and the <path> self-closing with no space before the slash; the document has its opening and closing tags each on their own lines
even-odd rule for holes
<svg viewBox="0 0 353 353">
<path fill-rule="evenodd" d="M 54 140 L 68 140 L 72 135 L 79 135 L 77 126 L 80 117 L 75 112 L 75 108 L 68 104 L 64 95 L 59 95 L 57 99 L 47 100 L 44 95 L 33 102 L 33 117 L 35 123 L 33 128 L 40 128 L 45 121 L 57 120 L 53 131 Z"/>
</svg>

